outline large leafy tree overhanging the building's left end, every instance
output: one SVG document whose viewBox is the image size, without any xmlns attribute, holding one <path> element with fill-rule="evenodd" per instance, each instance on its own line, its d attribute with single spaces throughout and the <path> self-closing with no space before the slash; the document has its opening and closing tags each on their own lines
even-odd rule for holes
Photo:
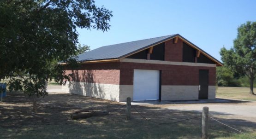
<svg viewBox="0 0 256 139">
<path fill-rule="evenodd" d="M 77 28 L 107 31 L 112 12 L 94 0 L 0 0 L 0 79 L 33 98 L 47 95 L 45 82 L 65 84 L 62 61 L 75 65 Z M 28 77 L 22 73 L 29 74 Z M 19 75 L 19 78 L 15 78 Z"/>
</svg>

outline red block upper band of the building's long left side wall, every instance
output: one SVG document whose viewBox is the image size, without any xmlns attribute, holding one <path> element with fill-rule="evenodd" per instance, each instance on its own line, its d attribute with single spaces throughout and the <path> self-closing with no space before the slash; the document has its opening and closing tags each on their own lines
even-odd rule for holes
<svg viewBox="0 0 256 139">
<path fill-rule="evenodd" d="M 119 84 L 120 63 L 82 64 L 77 70 L 66 70 L 72 74 L 71 81 Z"/>
</svg>

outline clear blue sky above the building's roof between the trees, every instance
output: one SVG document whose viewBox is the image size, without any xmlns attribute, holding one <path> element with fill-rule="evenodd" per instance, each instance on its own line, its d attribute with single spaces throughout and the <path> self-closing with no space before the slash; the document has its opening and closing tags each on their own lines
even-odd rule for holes
<svg viewBox="0 0 256 139">
<path fill-rule="evenodd" d="M 220 48 L 233 46 L 237 28 L 256 21 L 256 0 L 95 0 L 113 11 L 111 28 L 77 29 L 79 42 L 100 46 L 171 34 L 220 60 Z"/>
</svg>

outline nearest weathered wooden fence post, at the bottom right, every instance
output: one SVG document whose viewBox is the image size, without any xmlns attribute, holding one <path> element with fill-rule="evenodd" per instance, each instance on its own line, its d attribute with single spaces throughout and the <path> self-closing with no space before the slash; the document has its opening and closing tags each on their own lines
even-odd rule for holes
<svg viewBox="0 0 256 139">
<path fill-rule="evenodd" d="M 202 108 L 202 139 L 208 139 L 208 107 Z"/>
</svg>

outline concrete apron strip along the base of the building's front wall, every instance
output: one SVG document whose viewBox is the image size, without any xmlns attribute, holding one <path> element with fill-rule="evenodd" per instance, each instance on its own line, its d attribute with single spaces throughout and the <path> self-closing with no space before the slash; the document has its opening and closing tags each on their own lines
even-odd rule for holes
<svg viewBox="0 0 256 139">
<path fill-rule="evenodd" d="M 150 104 L 203 104 L 203 103 L 223 103 L 230 100 L 223 99 L 201 99 L 201 100 L 180 100 L 180 101 L 166 101 L 166 100 L 150 100 L 150 101 L 133 101 L 132 105 L 150 105 Z M 126 104 L 126 102 L 120 102 Z"/>
</svg>

